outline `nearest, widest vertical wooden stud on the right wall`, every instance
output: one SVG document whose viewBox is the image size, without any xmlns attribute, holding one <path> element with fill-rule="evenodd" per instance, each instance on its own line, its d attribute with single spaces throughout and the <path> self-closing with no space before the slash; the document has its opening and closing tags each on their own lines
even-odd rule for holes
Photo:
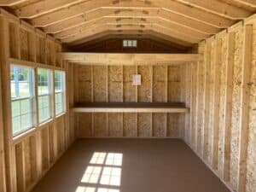
<svg viewBox="0 0 256 192">
<path fill-rule="evenodd" d="M 241 116 L 239 134 L 238 192 L 246 191 L 247 144 L 250 102 L 250 79 L 253 55 L 253 26 L 244 26 L 242 73 L 241 73 Z"/>
</svg>

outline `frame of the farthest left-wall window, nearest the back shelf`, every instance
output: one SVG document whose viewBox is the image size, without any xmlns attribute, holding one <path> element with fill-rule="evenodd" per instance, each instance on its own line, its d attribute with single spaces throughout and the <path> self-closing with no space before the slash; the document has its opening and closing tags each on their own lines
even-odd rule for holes
<svg viewBox="0 0 256 192">
<path fill-rule="evenodd" d="M 56 92 L 55 91 L 55 73 L 56 72 L 61 72 L 63 73 L 63 84 L 62 84 L 62 90 L 61 92 Z M 54 105 L 54 115 L 55 117 L 59 117 L 61 116 L 63 113 L 66 113 L 67 112 L 67 104 L 66 104 L 66 72 L 64 70 L 60 70 L 60 69 L 55 69 L 54 70 L 54 76 L 53 76 L 53 79 L 54 79 L 54 102 L 53 102 L 53 105 Z M 62 94 L 62 111 L 60 113 L 56 113 L 56 94 L 58 93 L 61 93 Z"/>
</svg>

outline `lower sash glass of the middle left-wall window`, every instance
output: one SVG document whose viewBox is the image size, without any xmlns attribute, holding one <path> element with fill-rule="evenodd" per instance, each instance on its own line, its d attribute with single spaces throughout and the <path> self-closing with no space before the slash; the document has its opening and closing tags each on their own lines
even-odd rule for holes
<svg viewBox="0 0 256 192">
<path fill-rule="evenodd" d="M 39 123 L 50 119 L 50 96 L 38 96 Z"/>
</svg>

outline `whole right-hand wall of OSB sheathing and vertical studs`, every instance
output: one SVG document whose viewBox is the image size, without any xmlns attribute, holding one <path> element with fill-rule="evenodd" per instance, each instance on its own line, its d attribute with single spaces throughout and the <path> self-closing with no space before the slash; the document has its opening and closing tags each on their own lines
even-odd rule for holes
<svg viewBox="0 0 256 192">
<path fill-rule="evenodd" d="M 230 190 L 254 192 L 255 21 L 251 19 L 246 23 L 253 27 L 239 23 L 227 32 L 221 32 L 202 43 L 205 45 L 204 88 L 200 88 L 200 67 L 197 66 L 199 69 L 197 94 L 195 95 L 193 86 L 191 86 L 192 90 L 190 88 L 188 90 L 192 97 L 197 98 L 197 104 L 201 100 L 199 92 L 203 91 L 203 113 L 201 115 L 198 106 L 192 120 L 190 122 L 186 120 L 187 125 L 193 123 L 193 119 L 196 120 L 195 129 L 202 131 L 202 145 L 198 146 L 198 142 L 194 143 L 193 125 L 184 129 L 184 139 Z M 245 30 L 247 30 L 246 36 Z M 250 30 L 253 33 L 253 40 L 249 37 L 252 34 Z M 218 50 L 217 58 L 216 50 Z M 195 67 L 192 66 L 191 72 L 196 73 L 193 68 Z M 193 74 L 191 77 L 193 82 Z M 194 99 L 190 101 L 189 106 L 193 113 Z M 199 126 L 201 118 L 203 126 Z M 199 137 L 197 138 L 199 141 Z"/>
</svg>

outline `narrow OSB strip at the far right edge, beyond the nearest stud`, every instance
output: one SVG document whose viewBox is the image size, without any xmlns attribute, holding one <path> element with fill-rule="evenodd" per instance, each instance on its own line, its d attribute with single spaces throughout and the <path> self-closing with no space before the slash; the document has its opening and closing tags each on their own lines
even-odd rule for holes
<svg viewBox="0 0 256 192">
<path fill-rule="evenodd" d="M 256 189 L 256 22 L 253 24 L 253 61 L 250 79 L 249 127 L 247 147 L 247 192 Z"/>
</svg>

